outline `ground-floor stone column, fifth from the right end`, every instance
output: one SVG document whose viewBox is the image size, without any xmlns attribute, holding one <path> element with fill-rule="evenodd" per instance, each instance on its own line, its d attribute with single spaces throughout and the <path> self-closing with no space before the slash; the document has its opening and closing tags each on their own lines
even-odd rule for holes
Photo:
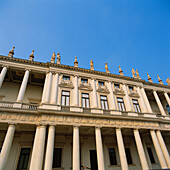
<svg viewBox="0 0 170 170">
<path fill-rule="evenodd" d="M 97 149 L 97 163 L 99 170 L 105 170 L 104 166 L 104 155 L 103 155 L 103 144 L 100 127 L 95 128 L 96 134 L 96 149 Z"/>
</svg>

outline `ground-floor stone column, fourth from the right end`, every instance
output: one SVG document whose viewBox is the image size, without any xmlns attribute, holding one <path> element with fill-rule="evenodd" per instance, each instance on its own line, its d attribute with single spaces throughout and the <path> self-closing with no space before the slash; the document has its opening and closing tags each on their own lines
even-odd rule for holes
<svg viewBox="0 0 170 170">
<path fill-rule="evenodd" d="M 128 170 L 128 163 L 126 159 L 125 147 L 122 138 L 121 129 L 116 128 L 116 137 L 117 137 L 117 144 L 119 149 L 119 156 L 120 156 L 120 163 L 122 170 Z"/>
</svg>

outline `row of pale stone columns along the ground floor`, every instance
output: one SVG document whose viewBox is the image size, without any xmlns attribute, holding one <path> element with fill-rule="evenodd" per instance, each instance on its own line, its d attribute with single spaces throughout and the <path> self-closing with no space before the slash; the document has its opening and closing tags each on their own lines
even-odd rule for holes
<svg viewBox="0 0 170 170">
<path fill-rule="evenodd" d="M 8 130 L 5 136 L 5 140 L 2 146 L 1 154 L 0 154 L 0 170 L 4 170 L 12 141 L 15 133 L 15 124 L 10 124 L 8 126 Z M 46 139 L 46 125 L 38 125 L 36 127 L 34 144 L 30 162 L 30 170 L 41 170 L 43 165 L 43 157 L 45 153 L 45 164 L 44 170 L 52 170 L 53 163 L 53 150 L 54 150 L 54 140 L 55 140 L 55 125 L 49 125 L 48 127 L 48 139 L 47 139 L 47 147 L 46 152 L 44 152 L 45 148 L 45 139 Z M 80 134 L 79 129 L 80 126 L 73 126 L 73 170 L 80 170 Z M 103 153 L 103 143 L 102 143 L 102 135 L 101 135 L 102 127 L 95 127 L 95 139 L 96 139 L 96 150 L 97 150 L 97 161 L 98 161 L 98 169 L 105 170 L 105 162 L 104 162 L 104 153 Z M 122 170 L 128 170 L 128 163 L 125 153 L 125 147 L 123 142 L 122 129 L 116 128 L 116 140 L 118 145 L 118 151 L 120 156 L 120 163 Z M 149 165 L 146 159 L 144 147 L 142 144 L 142 140 L 140 137 L 140 132 L 138 129 L 133 129 L 135 143 L 138 151 L 138 155 L 140 158 L 141 167 L 143 170 L 149 169 Z M 166 148 L 165 142 L 163 140 L 162 134 L 160 130 L 150 130 L 150 135 L 153 141 L 153 145 L 155 151 L 157 153 L 157 157 L 160 162 L 161 168 L 170 168 L 170 157 L 168 150 Z"/>
</svg>

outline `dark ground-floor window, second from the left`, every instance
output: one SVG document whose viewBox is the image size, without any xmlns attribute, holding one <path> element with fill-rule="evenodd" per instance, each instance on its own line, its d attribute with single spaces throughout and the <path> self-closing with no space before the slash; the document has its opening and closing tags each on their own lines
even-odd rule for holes
<svg viewBox="0 0 170 170">
<path fill-rule="evenodd" d="M 61 168 L 62 148 L 54 148 L 53 168 Z"/>
</svg>

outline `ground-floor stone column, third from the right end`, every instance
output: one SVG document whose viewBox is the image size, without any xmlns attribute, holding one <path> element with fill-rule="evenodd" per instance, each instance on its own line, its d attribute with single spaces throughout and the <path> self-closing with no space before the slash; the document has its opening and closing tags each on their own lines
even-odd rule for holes
<svg viewBox="0 0 170 170">
<path fill-rule="evenodd" d="M 140 162 L 141 162 L 141 165 L 142 165 L 142 169 L 148 170 L 149 166 L 148 166 L 148 163 L 147 163 L 147 160 L 146 160 L 145 152 L 144 152 L 144 149 L 143 149 L 143 145 L 142 145 L 142 141 L 141 141 L 138 129 L 134 129 L 134 136 L 135 136 L 136 146 L 137 146 Z"/>
</svg>

